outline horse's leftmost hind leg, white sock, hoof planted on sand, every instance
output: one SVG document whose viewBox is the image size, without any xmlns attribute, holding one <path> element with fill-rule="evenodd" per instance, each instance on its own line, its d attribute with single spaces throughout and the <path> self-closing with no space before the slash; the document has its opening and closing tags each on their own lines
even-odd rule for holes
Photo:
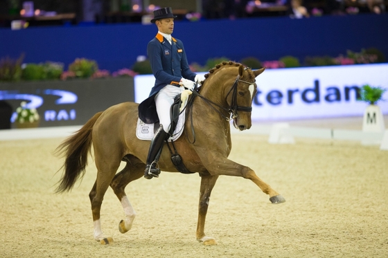
<svg viewBox="0 0 388 258">
<path fill-rule="evenodd" d="M 109 184 L 112 182 L 114 174 L 116 174 L 120 163 L 119 161 L 110 161 L 109 163 L 107 159 L 100 160 L 100 158 L 98 158 L 98 154 L 95 153 L 95 155 L 97 179 L 89 193 L 91 212 L 93 214 L 94 221 L 94 239 L 100 241 L 102 244 L 108 244 L 112 243 L 113 239 L 112 237 L 105 236 L 105 234 L 103 234 L 103 230 L 101 230 L 100 210 L 105 192 L 107 192 Z"/>
</svg>

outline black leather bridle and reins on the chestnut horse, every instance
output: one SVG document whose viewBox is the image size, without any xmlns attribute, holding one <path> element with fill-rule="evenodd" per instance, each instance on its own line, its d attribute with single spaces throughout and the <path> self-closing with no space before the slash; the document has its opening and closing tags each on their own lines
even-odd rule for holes
<svg viewBox="0 0 388 258">
<path fill-rule="evenodd" d="M 191 113 L 190 114 L 190 120 L 191 120 L 191 132 L 193 133 L 193 142 L 191 142 L 189 139 L 188 139 L 188 136 L 187 136 L 187 133 L 186 133 L 186 137 L 188 139 L 188 142 L 190 142 L 191 144 L 194 144 L 195 143 L 195 131 L 194 131 L 194 127 L 193 127 L 193 112 L 192 112 L 192 109 L 193 109 L 193 102 L 194 102 L 194 98 L 195 97 L 200 97 L 202 100 L 204 100 L 204 102 L 206 104 L 209 105 L 209 107 L 211 107 L 211 109 L 213 109 L 215 112 L 219 113 L 220 116 L 222 116 L 222 118 L 224 118 L 225 120 L 227 120 L 227 122 L 230 122 L 231 120 L 235 119 L 238 117 L 238 113 L 237 111 L 243 111 L 243 112 L 252 112 L 252 107 L 242 107 L 242 106 L 238 106 L 237 104 L 237 85 L 238 85 L 238 82 L 243 82 L 243 83 L 246 83 L 246 84 L 254 84 L 256 82 L 256 80 L 254 80 L 254 82 L 247 82 L 245 80 L 240 80 L 240 75 L 237 75 L 236 77 L 236 80 L 234 81 L 233 85 L 231 86 L 231 89 L 229 90 L 229 92 L 227 93 L 227 98 L 229 96 L 230 93 L 232 93 L 232 100 L 231 100 L 231 105 L 229 108 L 224 108 L 222 106 L 220 106 L 219 104 L 211 101 L 211 100 L 208 100 L 207 98 L 204 98 L 204 96 L 202 96 L 198 91 L 197 91 L 197 84 L 195 84 L 195 89 L 193 90 L 193 96 L 191 96 L 191 98 L 189 98 L 188 100 L 188 103 L 186 105 L 186 107 L 188 107 L 188 111 Z M 225 117 L 222 112 L 218 109 L 215 109 L 215 107 L 213 106 L 216 106 L 224 111 L 227 111 L 229 113 L 229 117 Z"/>
</svg>

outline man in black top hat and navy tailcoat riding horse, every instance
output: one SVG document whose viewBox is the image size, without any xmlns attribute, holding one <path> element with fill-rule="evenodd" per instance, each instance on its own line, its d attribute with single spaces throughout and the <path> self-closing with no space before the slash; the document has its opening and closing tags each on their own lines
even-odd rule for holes
<svg viewBox="0 0 388 258">
<path fill-rule="evenodd" d="M 157 162 L 170 130 L 170 107 L 177 95 L 184 89 L 194 89 L 195 82 L 204 81 L 204 76 L 197 75 L 188 66 L 182 41 L 171 37 L 174 29 L 174 18 L 171 8 L 154 11 L 152 23 L 157 25 L 158 33 L 147 46 L 155 86 L 150 96 L 139 105 L 139 118 L 151 124 L 159 120 L 159 128 L 152 138 L 148 151 L 144 177 L 159 177 L 160 169 Z"/>
</svg>

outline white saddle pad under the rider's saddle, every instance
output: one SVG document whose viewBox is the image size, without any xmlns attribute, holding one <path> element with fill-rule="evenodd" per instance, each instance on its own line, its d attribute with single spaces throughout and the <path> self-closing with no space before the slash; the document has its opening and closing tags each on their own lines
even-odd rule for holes
<svg viewBox="0 0 388 258">
<path fill-rule="evenodd" d="M 183 101 L 183 100 L 182 100 Z M 184 107 L 186 107 L 187 104 L 187 97 L 184 100 Z M 168 138 L 168 141 L 171 142 L 173 140 L 177 140 L 182 135 L 183 129 L 184 129 L 184 120 L 185 120 L 185 114 L 186 112 L 182 112 L 179 115 L 177 127 L 175 127 L 174 133 L 170 138 Z M 136 125 L 136 137 L 139 138 L 139 140 L 152 140 L 154 137 L 154 125 L 155 124 L 145 124 L 140 118 L 137 119 L 137 125 Z"/>
</svg>

